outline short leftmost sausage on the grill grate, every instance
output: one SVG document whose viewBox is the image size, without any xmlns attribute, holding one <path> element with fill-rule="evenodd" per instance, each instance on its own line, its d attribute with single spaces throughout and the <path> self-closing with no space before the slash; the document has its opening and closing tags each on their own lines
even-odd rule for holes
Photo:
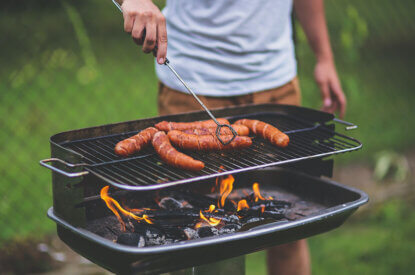
<svg viewBox="0 0 415 275">
<path fill-rule="evenodd" d="M 136 134 L 135 136 L 124 139 L 115 145 L 115 153 L 126 157 L 140 151 L 144 146 L 149 144 L 158 130 L 154 127 L 148 127 Z"/>
</svg>

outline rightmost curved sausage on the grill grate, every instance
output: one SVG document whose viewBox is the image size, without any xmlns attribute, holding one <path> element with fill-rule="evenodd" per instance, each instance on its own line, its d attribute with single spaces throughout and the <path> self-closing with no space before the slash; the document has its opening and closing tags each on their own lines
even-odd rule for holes
<svg viewBox="0 0 415 275">
<path fill-rule="evenodd" d="M 252 119 L 240 119 L 235 124 L 247 126 L 255 135 L 269 140 L 278 147 L 286 147 L 290 143 L 290 138 L 271 124 Z"/>
</svg>

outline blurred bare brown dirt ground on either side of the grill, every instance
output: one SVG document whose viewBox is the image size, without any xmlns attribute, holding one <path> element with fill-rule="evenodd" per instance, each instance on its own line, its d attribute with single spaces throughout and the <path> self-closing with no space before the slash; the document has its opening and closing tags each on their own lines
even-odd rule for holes
<svg viewBox="0 0 415 275">
<path fill-rule="evenodd" d="M 376 204 L 390 198 L 413 197 L 415 195 L 415 177 L 411 175 L 411 171 L 415 171 L 415 151 L 404 157 L 409 164 L 409 171 L 405 180 L 397 181 L 391 177 L 382 181 L 376 181 L 373 177 L 374 168 L 368 164 L 337 166 L 334 170 L 333 179 L 368 193 L 370 202 L 360 210 L 361 212 L 367 211 Z M 48 243 L 38 244 L 38 250 L 43 251 L 43 253 L 49 253 L 56 266 L 56 269 L 53 271 L 41 274 L 111 274 L 73 252 L 56 236 L 52 237 L 52 240 Z"/>
</svg>

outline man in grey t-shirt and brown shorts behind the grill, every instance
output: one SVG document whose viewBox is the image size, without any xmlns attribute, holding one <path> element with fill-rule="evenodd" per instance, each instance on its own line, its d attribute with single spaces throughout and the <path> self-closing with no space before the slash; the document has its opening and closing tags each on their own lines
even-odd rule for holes
<svg viewBox="0 0 415 275">
<path fill-rule="evenodd" d="M 293 3 L 294 1 L 294 3 Z M 316 57 L 315 79 L 324 111 L 343 117 L 346 99 L 334 65 L 323 0 L 117 0 L 124 29 L 156 61 L 169 59 L 209 107 L 248 103 L 300 104 L 291 13 Z M 169 43 L 167 45 L 167 37 Z M 156 66 L 160 114 L 200 110 L 166 66 Z M 269 249 L 270 274 L 309 274 L 305 240 Z"/>
</svg>

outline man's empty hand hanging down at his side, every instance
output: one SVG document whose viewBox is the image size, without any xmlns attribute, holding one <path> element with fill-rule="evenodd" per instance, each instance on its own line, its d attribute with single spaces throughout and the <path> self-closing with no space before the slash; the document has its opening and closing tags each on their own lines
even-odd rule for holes
<svg viewBox="0 0 415 275">
<path fill-rule="evenodd" d="M 332 61 L 317 62 L 314 69 L 314 78 L 323 99 L 322 110 L 329 113 L 339 111 L 340 117 L 343 118 L 346 112 L 346 97 L 334 63 Z"/>
</svg>

